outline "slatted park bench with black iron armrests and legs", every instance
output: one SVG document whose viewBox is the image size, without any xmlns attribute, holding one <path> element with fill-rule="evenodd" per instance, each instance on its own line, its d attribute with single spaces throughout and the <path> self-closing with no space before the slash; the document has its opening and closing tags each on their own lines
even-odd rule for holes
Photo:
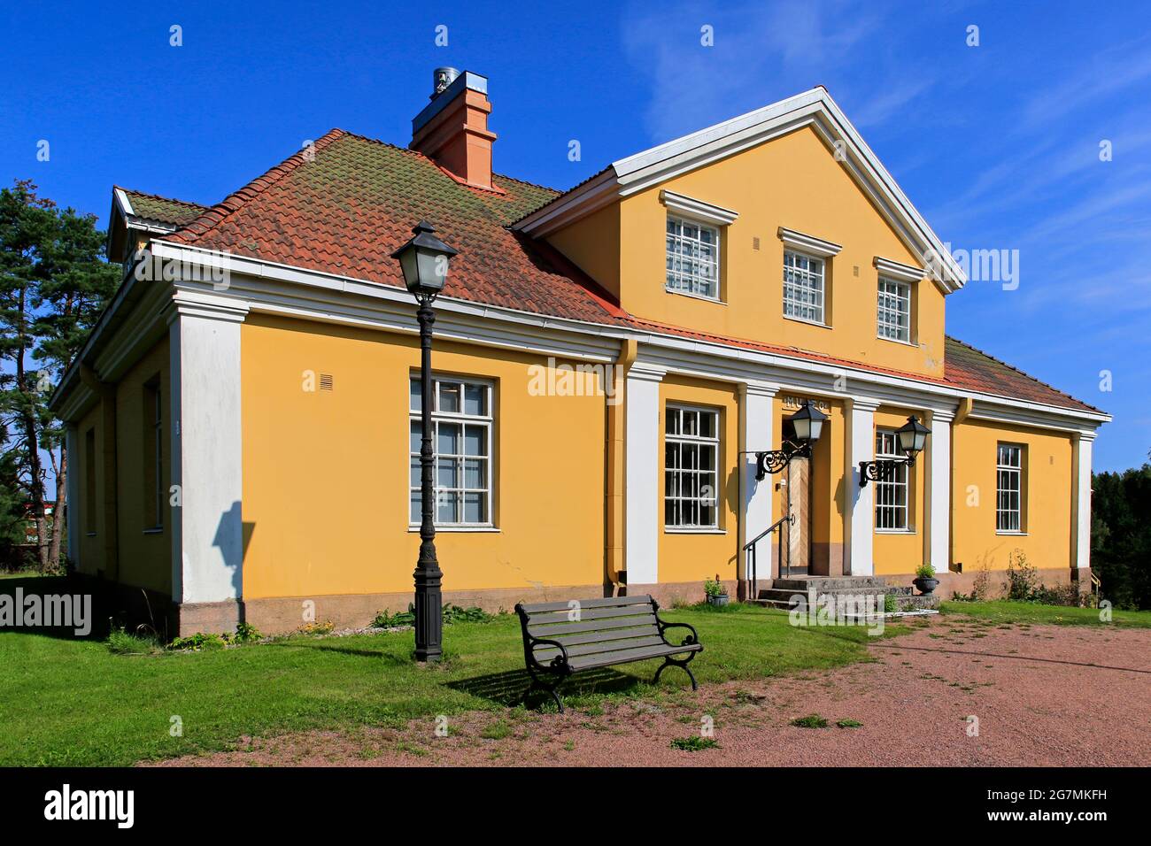
<svg viewBox="0 0 1151 846">
<path fill-rule="evenodd" d="M 518 603 L 516 613 L 524 632 L 524 662 L 532 677 L 525 701 L 532 691 L 542 689 L 563 714 L 564 703 L 556 691 L 569 676 L 650 658 L 664 660 L 653 684 L 668 666 L 679 666 L 692 680 L 692 689 L 699 688 L 687 668 L 695 654 L 703 651 L 695 628 L 660 619 L 660 604 L 648 595 Z M 691 633 L 683 642 L 672 643 L 665 635 L 669 628 Z"/>
</svg>

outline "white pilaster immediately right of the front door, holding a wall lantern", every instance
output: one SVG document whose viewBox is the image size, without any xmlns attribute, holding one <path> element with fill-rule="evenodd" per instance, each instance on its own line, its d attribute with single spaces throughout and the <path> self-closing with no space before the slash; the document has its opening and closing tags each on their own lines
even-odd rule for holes
<svg viewBox="0 0 1151 846">
<path fill-rule="evenodd" d="M 851 576 L 872 576 L 875 506 L 874 485 L 860 487 L 860 462 L 875 458 L 875 410 L 879 404 L 871 399 L 853 397 L 844 401 L 847 420 L 845 443 L 844 483 L 844 572 Z"/>
</svg>

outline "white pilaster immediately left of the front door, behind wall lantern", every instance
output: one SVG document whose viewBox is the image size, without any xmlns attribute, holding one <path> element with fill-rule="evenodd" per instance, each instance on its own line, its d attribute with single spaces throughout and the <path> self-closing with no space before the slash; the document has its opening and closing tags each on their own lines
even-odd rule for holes
<svg viewBox="0 0 1151 846">
<path fill-rule="evenodd" d="M 742 511 L 739 519 L 740 579 L 752 578 L 752 557 L 742 552 L 744 544 L 771 525 L 771 478 L 762 482 L 755 479 L 755 454 L 772 449 L 771 402 L 779 390 L 777 386 L 757 382 L 741 382 L 739 386 L 739 478 Z M 756 579 L 771 580 L 771 542 L 759 543 Z"/>
</svg>

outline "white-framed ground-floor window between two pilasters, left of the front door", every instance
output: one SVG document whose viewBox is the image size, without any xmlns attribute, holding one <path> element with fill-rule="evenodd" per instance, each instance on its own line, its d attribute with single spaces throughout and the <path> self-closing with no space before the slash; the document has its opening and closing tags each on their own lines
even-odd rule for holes
<svg viewBox="0 0 1151 846">
<path fill-rule="evenodd" d="M 718 528 L 719 412 L 669 405 L 665 418 L 664 526 Z"/>
</svg>

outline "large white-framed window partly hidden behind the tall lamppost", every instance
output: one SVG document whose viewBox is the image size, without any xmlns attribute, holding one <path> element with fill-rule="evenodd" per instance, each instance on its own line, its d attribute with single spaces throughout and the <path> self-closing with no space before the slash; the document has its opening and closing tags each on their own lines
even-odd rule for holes
<svg viewBox="0 0 1151 846">
<path fill-rule="evenodd" d="M 455 376 L 433 380 L 432 449 L 435 455 L 435 524 L 491 525 L 491 384 Z M 409 389 L 409 513 L 420 523 L 420 378 Z"/>
</svg>

